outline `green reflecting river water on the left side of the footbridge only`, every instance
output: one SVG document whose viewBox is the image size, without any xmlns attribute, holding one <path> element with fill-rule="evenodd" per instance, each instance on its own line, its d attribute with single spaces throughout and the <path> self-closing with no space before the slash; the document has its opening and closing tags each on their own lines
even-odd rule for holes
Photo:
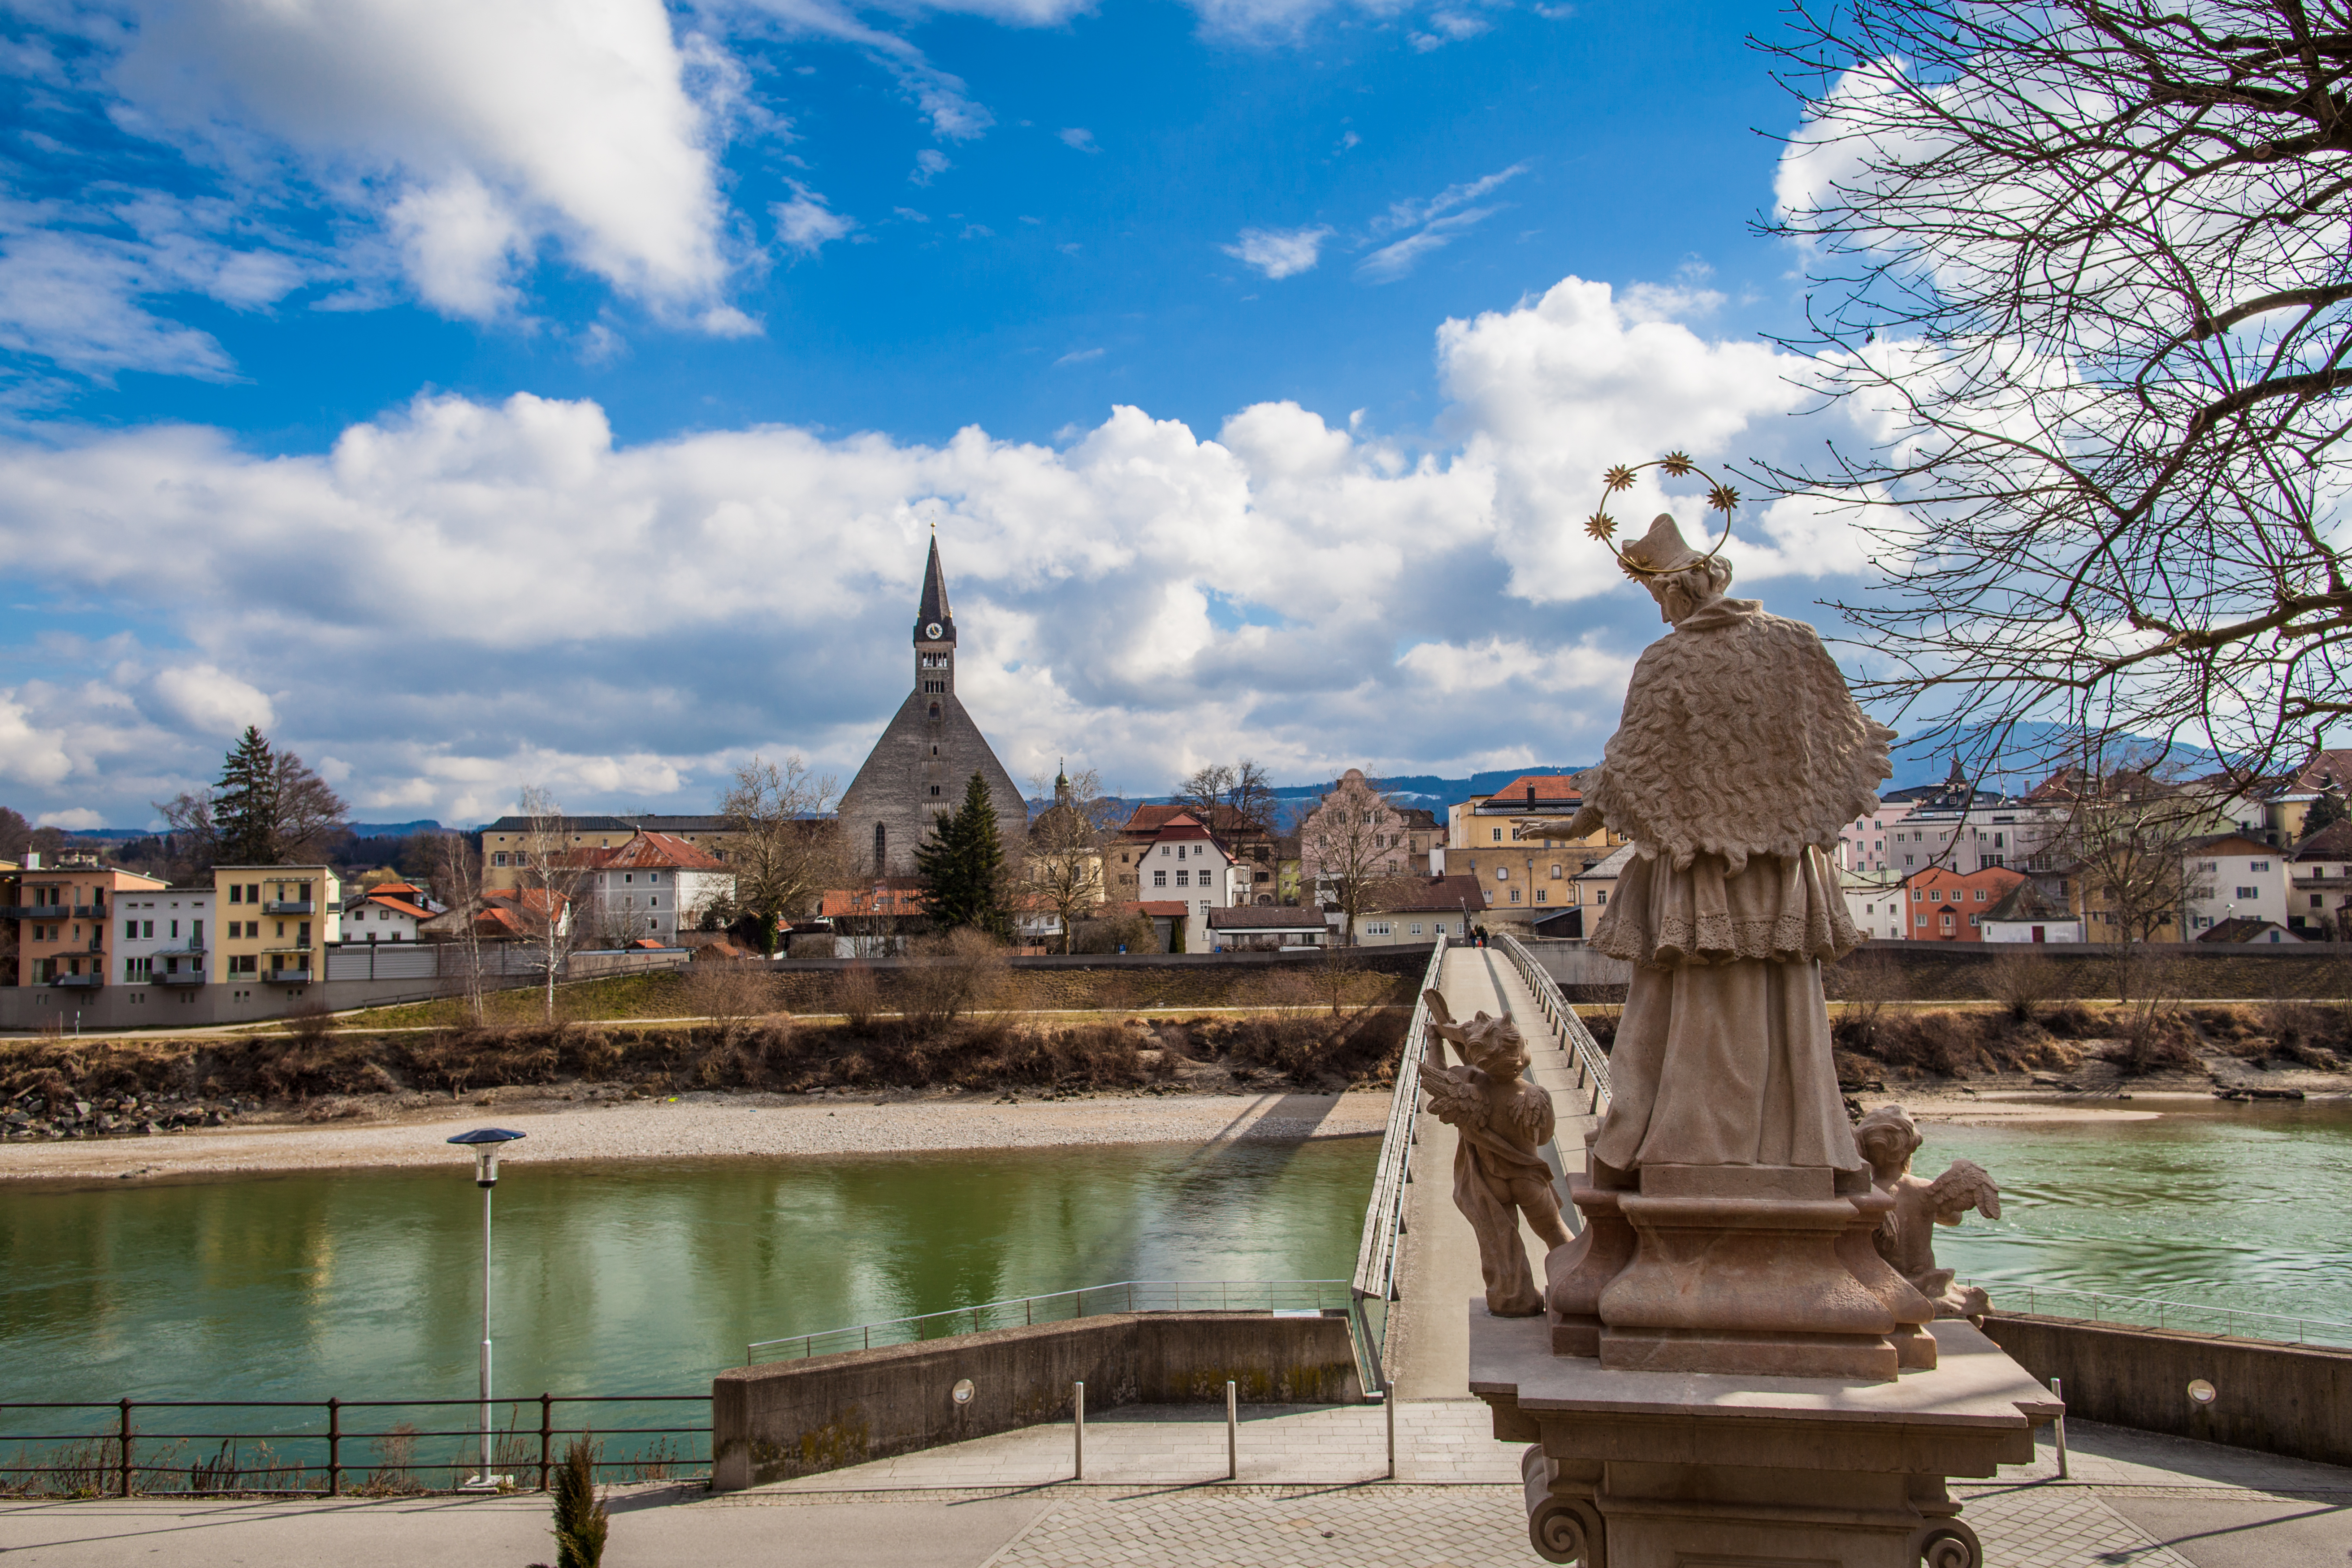
<svg viewBox="0 0 2352 1568">
<path fill-rule="evenodd" d="M 1338 1279 L 1378 1145 L 532 1166 L 506 1392 L 694 1389 L 757 1338 L 1112 1279 Z M 7 1399 L 466 1394 L 468 1168 L 0 1190 Z"/>
</svg>

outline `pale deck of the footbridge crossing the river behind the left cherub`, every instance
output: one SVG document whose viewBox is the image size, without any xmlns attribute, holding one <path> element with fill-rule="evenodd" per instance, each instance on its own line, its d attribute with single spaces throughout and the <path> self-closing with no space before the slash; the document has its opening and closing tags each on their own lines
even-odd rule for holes
<svg viewBox="0 0 2352 1568">
<path fill-rule="evenodd" d="M 1446 947 L 1439 994 L 1454 1018 L 1510 1011 L 1526 1034 L 1529 1077 L 1552 1095 L 1552 1145 L 1571 1168 L 1583 1168 L 1590 1091 L 1576 1086 L 1576 1060 L 1536 1006 L 1519 971 L 1494 947 Z M 1451 1058 L 1449 1058 L 1451 1060 Z M 1454 1128 L 1421 1112 L 1414 1121 L 1414 1180 L 1404 1192 L 1404 1246 L 1397 1253 L 1397 1302 L 1388 1316 L 1388 1366 L 1404 1399 L 1463 1399 L 1470 1392 L 1470 1298 L 1484 1291 L 1477 1239 L 1454 1208 Z M 1576 1229 L 1576 1211 L 1569 1227 Z M 1522 1222 L 1526 1255 L 1543 1244 Z M 1536 1284 L 1543 1284 L 1538 1272 Z M 1517 1472 L 1512 1472 L 1517 1474 Z"/>
</svg>

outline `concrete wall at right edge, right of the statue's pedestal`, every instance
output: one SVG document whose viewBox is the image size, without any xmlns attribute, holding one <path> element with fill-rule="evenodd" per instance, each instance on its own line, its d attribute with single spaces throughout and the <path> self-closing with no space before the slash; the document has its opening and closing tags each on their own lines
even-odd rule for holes
<svg viewBox="0 0 2352 1568">
<path fill-rule="evenodd" d="M 2056 1316 L 1985 1316 L 2018 1366 L 2065 1385 L 2067 1415 L 2352 1465 L 2352 1349 L 2227 1340 Z M 2194 1378 L 2218 1396 L 2187 1396 Z"/>
</svg>

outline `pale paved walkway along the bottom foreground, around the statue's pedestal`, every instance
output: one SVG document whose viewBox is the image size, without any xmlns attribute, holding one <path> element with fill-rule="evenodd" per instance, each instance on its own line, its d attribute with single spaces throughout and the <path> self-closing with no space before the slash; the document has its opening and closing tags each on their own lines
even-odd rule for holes
<svg viewBox="0 0 2352 1568">
<path fill-rule="evenodd" d="M 2030 1467 L 1955 1488 L 1987 1568 L 2345 1568 L 2352 1469 L 2074 1422 L 2072 1481 Z M 609 1568 L 1531 1568 L 1519 1448 L 1470 1401 L 1399 1406 L 1399 1481 L 1376 1481 L 1376 1406 L 1254 1410 L 1240 1483 L 1197 1408 L 1030 1427 L 713 1497 L 614 1497 Z M 0 1502 L 0 1561 L 54 1568 L 412 1568 L 555 1559 L 548 1500 Z"/>
</svg>

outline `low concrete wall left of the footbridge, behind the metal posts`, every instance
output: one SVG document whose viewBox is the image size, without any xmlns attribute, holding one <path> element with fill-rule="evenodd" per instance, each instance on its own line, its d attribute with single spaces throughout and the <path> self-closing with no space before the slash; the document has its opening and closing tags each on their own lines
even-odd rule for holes
<svg viewBox="0 0 2352 1568">
<path fill-rule="evenodd" d="M 955 1403 L 969 1378 L 971 1403 Z M 1357 1403 L 1348 1319 L 1136 1312 L 774 1361 L 710 1380 L 710 1486 L 739 1490 L 1127 1403 Z"/>
</svg>

